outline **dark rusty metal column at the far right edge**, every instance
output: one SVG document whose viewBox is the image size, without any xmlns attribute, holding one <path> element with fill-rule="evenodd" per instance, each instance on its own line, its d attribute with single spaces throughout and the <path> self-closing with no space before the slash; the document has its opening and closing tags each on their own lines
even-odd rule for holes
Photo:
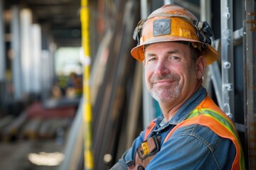
<svg viewBox="0 0 256 170">
<path fill-rule="evenodd" d="M 255 1 L 244 1 L 244 87 L 245 87 L 245 140 L 248 169 L 256 169 L 256 12 Z"/>
</svg>

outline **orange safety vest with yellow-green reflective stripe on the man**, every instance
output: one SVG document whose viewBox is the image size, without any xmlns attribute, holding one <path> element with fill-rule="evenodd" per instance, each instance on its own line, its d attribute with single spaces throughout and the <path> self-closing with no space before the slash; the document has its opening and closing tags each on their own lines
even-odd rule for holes
<svg viewBox="0 0 256 170">
<path fill-rule="evenodd" d="M 172 129 L 169 134 L 164 139 L 166 142 L 169 137 L 174 133 L 174 131 L 178 128 L 187 125 L 199 124 L 204 125 L 213 130 L 217 135 L 223 138 L 227 138 L 233 142 L 236 149 L 235 160 L 232 165 L 232 169 L 243 170 L 245 169 L 245 159 L 242 152 L 242 147 L 240 145 L 240 140 L 238 137 L 238 132 L 235 129 L 235 125 L 233 122 L 228 118 L 223 111 L 216 106 L 213 100 L 207 96 L 181 123 L 178 123 Z M 149 126 L 145 130 L 144 140 L 147 139 L 151 131 L 154 129 L 156 123 L 151 121 Z"/>
</svg>

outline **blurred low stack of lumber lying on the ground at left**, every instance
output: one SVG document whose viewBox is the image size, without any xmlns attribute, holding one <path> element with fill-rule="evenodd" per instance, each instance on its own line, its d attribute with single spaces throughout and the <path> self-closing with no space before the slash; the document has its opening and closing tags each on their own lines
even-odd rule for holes
<svg viewBox="0 0 256 170">
<path fill-rule="evenodd" d="M 44 108 L 41 103 L 34 103 L 18 117 L 8 115 L 0 118 L 0 139 L 10 142 L 20 139 L 49 139 L 63 135 L 75 113 L 75 106 Z"/>
</svg>

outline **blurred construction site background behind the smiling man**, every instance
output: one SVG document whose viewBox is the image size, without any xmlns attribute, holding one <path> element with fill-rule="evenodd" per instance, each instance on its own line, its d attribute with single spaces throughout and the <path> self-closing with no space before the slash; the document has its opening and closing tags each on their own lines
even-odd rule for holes
<svg viewBox="0 0 256 170">
<path fill-rule="evenodd" d="M 134 28 L 171 3 L 213 28 L 220 57 L 203 86 L 232 117 L 247 169 L 256 169 L 252 0 L 0 0 L 0 169 L 109 169 L 117 162 L 161 114 L 130 55 Z"/>
</svg>

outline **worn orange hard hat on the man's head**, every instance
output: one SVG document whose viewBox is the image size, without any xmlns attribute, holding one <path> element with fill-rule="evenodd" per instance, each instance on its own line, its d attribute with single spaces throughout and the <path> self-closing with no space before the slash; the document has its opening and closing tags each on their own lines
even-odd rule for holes
<svg viewBox="0 0 256 170">
<path fill-rule="evenodd" d="M 144 45 L 156 42 L 188 41 L 201 50 L 206 65 L 218 58 L 218 53 L 211 46 L 213 32 L 206 21 L 198 21 L 190 11 L 169 4 L 156 9 L 148 18 L 140 21 L 134 30 L 137 47 L 131 51 L 132 57 L 140 62 L 144 60 Z"/>
</svg>

